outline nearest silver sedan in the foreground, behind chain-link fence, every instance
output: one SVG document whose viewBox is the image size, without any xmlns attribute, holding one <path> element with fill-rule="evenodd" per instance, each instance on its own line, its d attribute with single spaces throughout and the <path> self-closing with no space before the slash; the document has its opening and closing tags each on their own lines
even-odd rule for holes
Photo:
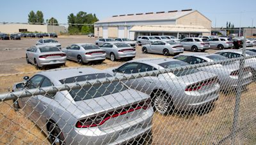
<svg viewBox="0 0 256 145">
<path fill-rule="evenodd" d="M 16 89 L 15 85 L 13 91 L 109 77 L 110 74 L 92 68 L 43 71 L 31 79 L 26 77 L 24 85 L 17 84 L 23 87 Z M 147 94 L 122 82 L 81 87 L 20 98 L 15 100 L 15 106 L 22 108 L 51 144 L 152 142 L 154 111 Z"/>
</svg>

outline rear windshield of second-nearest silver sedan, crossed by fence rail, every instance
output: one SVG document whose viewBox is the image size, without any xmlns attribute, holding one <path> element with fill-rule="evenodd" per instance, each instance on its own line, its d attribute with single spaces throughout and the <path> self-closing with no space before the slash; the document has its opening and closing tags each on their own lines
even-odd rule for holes
<svg viewBox="0 0 256 145">
<path fill-rule="evenodd" d="M 189 64 L 182 61 L 170 61 L 170 62 L 164 62 L 162 64 L 158 64 L 158 65 L 164 68 L 175 68 L 175 67 L 181 67 L 181 66 L 188 66 Z M 175 76 L 185 76 L 187 74 L 193 74 L 196 72 L 198 72 L 197 69 L 182 69 L 182 70 L 172 71 L 172 73 Z"/>
</svg>

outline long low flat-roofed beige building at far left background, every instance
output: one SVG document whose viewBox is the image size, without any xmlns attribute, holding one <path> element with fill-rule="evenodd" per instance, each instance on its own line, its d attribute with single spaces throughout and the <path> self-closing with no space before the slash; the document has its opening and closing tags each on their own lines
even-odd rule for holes
<svg viewBox="0 0 256 145">
<path fill-rule="evenodd" d="M 31 24 L 1 24 L 0 32 L 13 34 L 17 32 L 65 32 L 65 27 L 60 25 L 31 25 Z"/>
</svg>

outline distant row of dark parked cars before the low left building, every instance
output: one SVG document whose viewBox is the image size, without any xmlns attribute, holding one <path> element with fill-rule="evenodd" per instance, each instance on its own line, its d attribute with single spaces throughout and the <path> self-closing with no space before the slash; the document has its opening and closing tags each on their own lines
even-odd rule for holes
<svg viewBox="0 0 256 145">
<path fill-rule="evenodd" d="M 20 38 L 44 38 L 44 37 L 50 37 L 50 38 L 58 38 L 58 35 L 56 33 L 17 33 L 17 34 L 8 34 L 0 33 L 0 39 L 2 40 L 17 40 Z"/>
</svg>

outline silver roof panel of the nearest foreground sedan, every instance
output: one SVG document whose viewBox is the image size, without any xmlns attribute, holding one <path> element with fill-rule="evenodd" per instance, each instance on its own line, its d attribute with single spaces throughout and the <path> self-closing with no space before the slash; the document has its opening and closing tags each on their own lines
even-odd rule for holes
<svg viewBox="0 0 256 145">
<path fill-rule="evenodd" d="M 42 71 L 38 72 L 43 76 L 51 79 L 51 81 L 60 81 L 65 78 L 72 78 L 76 76 L 83 76 L 86 74 L 98 74 L 98 73 L 107 73 L 104 71 L 100 71 L 99 69 L 93 69 L 92 67 L 73 67 L 70 69 L 62 68 L 62 69 L 54 69 L 50 71 Z"/>
</svg>

